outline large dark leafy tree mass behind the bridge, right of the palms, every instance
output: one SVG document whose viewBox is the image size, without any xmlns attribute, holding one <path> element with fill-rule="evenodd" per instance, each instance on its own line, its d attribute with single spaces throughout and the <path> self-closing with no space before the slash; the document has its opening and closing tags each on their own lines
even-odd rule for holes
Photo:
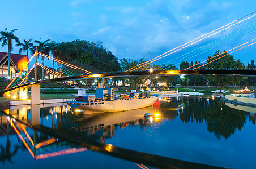
<svg viewBox="0 0 256 169">
<path fill-rule="evenodd" d="M 101 72 L 121 70 L 118 58 L 110 51 L 106 51 L 100 41 L 88 42 L 78 40 L 59 44 L 56 57 L 62 61 L 80 61 L 89 63 Z"/>
</svg>

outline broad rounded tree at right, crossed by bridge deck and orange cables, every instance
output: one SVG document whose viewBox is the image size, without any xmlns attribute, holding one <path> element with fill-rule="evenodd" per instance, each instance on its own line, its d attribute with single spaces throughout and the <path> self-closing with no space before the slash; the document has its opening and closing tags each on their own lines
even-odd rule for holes
<svg viewBox="0 0 256 169">
<path fill-rule="evenodd" d="M 244 64 L 240 60 L 235 61 L 232 55 L 229 55 L 227 51 L 223 51 L 221 54 L 216 51 L 215 54 L 207 58 L 207 68 L 244 68 Z M 225 71 L 225 70 L 223 70 Z M 230 83 L 239 83 L 242 81 L 241 77 L 224 77 L 224 76 L 207 76 L 205 77 L 211 83 L 215 83 L 219 86 L 220 92 L 222 88 Z"/>
</svg>

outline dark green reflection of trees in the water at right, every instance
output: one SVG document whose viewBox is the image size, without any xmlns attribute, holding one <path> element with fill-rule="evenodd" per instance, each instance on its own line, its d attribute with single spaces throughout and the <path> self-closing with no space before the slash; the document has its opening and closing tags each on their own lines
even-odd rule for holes
<svg viewBox="0 0 256 169">
<path fill-rule="evenodd" d="M 182 106 L 177 107 L 180 104 Z M 180 119 L 184 123 L 202 123 L 206 121 L 207 130 L 214 133 L 217 139 L 220 139 L 220 137 L 228 139 L 231 134 L 234 134 L 234 131 L 241 130 L 248 115 L 244 111 L 226 106 L 219 99 L 202 97 L 182 97 L 179 101 L 173 99 L 171 103 L 162 105 L 160 111 L 165 112 L 169 119 L 174 119 L 178 117 L 178 113 L 174 111 L 175 109 L 180 113 Z"/>
</svg>

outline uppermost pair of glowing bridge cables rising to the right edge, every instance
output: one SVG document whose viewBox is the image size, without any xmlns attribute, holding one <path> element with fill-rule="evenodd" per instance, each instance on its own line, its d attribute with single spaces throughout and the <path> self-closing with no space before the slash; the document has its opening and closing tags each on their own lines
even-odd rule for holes
<svg viewBox="0 0 256 169">
<path fill-rule="evenodd" d="M 229 23 L 229 24 L 227 24 L 227 25 L 225 25 L 225 26 L 222 26 L 222 27 L 217 28 L 217 29 L 215 29 L 215 30 L 212 31 L 212 32 L 215 32 L 216 30 L 221 29 L 221 30 L 219 30 L 219 31 L 217 31 L 217 32 L 215 32 L 215 33 L 210 32 L 210 33 L 212 33 L 212 34 L 210 34 L 210 33 L 204 34 L 204 35 L 202 35 L 202 36 L 200 36 L 200 37 L 198 37 L 198 38 L 193 39 L 193 40 L 190 41 L 190 42 L 193 42 L 193 41 L 195 41 L 195 40 L 197 40 L 197 39 L 199 39 L 199 38 L 204 37 L 204 36 L 207 35 L 206 37 L 201 38 L 201 39 L 199 39 L 198 41 L 195 41 L 195 42 L 193 42 L 193 43 L 187 42 L 187 43 L 184 44 L 184 45 L 186 45 L 186 46 L 181 45 L 181 46 L 178 46 L 178 47 L 176 47 L 176 48 L 173 48 L 173 49 L 170 50 L 170 51 L 173 51 L 173 50 L 175 50 L 175 51 L 173 51 L 173 52 L 167 51 L 167 52 L 165 52 L 164 54 L 159 55 L 159 56 L 157 56 L 157 57 L 155 57 L 155 58 L 153 58 L 153 59 L 151 59 L 151 60 L 149 60 L 149 61 L 146 61 L 146 62 L 144 62 L 144 63 L 141 63 L 141 64 L 139 64 L 139 65 L 136 65 L 136 66 L 134 66 L 133 68 L 126 70 L 125 72 L 127 72 L 127 71 L 129 71 L 129 70 L 130 70 L 130 71 L 134 71 L 134 70 L 136 70 L 136 69 L 141 68 L 142 66 L 151 64 L 151 63 L 153 63 L 153 62 L 156 61 L 156 60 L 159 60 L 159 59 L 161 59 L 161 58 L 163 58 L 163 57 L 169 56 L 170 54 L 173 54 L 174 52 L 180 51 L 180 50 L 182 50 L 183 48 L 186 48 L 186 47 L 188 47 L 188 46 L 193 45 L 194 43 L 197 43 L 197 42 L 199 42 L 199 41 L 202 41 L 203 39 L 206 39 L 206 38 L 208 38 L 208 37 L 211 37 L 212 35 L 215 35 L 215 34 L 217 34 L 217 33 L 219 33 L 219 32 L 222 32 L 223 30 L 228 29 L 228 28 L 230 28 L 230 27 L 232 27 L 232 26 L 234 26 L 234 25 L 236 25 L 236 24 L 238 24 L 238 23 L 241 23 L 241 22 L 245 21 L 245 20 L 248 20 L 248 19 L 250 19 L 251 17 L 254 17 L 254 16 L 256 16 L 256 14 L 254 14 L 254 15 L 252 15 L 252 16 L 250 16 L 250 17 L 247 17 L 246 19 L 241 20 L 241 21 L 238 21 L 239 19 L 238 19 L 238 20 L 234 20 L 233 22 L 231 22 L 231 23 Z M 235 24 L 233 24 L 233 23 L 236 22 L 236 21 L 238 21 L 238 22 L 235 23 Z M 230 25 L 230 24 L 232 24 L 232 25 Z M 228 26 L 228 25 L 229 25 L 229 26 Z M 227 26 L 227 27 L 226 27 L 226 26 Z M 224 28 L 224 27 L 226 27 L 226 28 Z M 222 28 L 224 28 L 224 29 L 222 29 Z M 208 34 L 210 34 L 210 35 L 208 35 Z M 190 43 L 190 44 L 189 44 L 189 43 Z M 187 44 L 189 44 L 189 45 L 187 45 Z M 184 47 L 182 47 L 182 46 L 184 46 Z M 180 47 L 181 47 L 181 48 L 180 48 Z M 177 48 L 179 48 L 179 49 L 176 50 Z M 170 52 L 170 54 L 167 54 L 168 52 Z M 167 54 L 167 55 L 165 55 L 165 54 Z M 164 55 L 164 56 L 163 56 L 163 55 Z M 138 67 L 137 67 L 137 66 L 138 66 Z"/>
</svg>

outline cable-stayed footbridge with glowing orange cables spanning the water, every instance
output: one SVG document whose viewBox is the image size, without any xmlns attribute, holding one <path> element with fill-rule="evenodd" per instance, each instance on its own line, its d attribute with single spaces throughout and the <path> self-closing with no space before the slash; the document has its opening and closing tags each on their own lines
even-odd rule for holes
<svg viewBox="0 0 256 169">
<path fill-rule="evenodd" d="M 148 76 L 157 75 L 232 75 L 255 77 L 255 68 L 228 67 L 223 63 L 224 68 L 213 68 L 216 61 L 224 59 L 229 55 L 236 55 L 240 59 L 251 59 L 255 57 L 256 43 L 256 12 L 253 12 L 240 19 L 234 20 L 229 24 L 221 26 L 209 33 L 203 34 L 183 45 L 165 52 L 151 60 L 140 63 L 133 68 L 121 72 L 101 72 L 92 73 L 88 70 L 71 65 L 52 56 L 36 51 L 27 61 L 24 68 L 20 70 L 14 79 L 8 84 L 1 95 L 12 95 L 11 93 L 19 90 L 19 97 L 27 97 L 27 88 L 31 86 L 31 104 L 40 104 L 40 84 L 74 81 L 90 78 L 112 78 L 127 76 Z M 223 51 L 215 54 L 215 51 Z M 212 57 L 208 57 L 212 56 Z M 188 68 L 177 69 L 183 61 L 200 61 L 191 64 Z M 104 63 L 102 63 L 104 64 Z M 153 64 L 160 65 L 160 70 L 149 70 Z M 225 65 L 227 64 L 227 65 Z M 176 68 L 176 69 L 173 69 Z M 32 101 L 35 100 L 35 101 Z"/>
</svg>

